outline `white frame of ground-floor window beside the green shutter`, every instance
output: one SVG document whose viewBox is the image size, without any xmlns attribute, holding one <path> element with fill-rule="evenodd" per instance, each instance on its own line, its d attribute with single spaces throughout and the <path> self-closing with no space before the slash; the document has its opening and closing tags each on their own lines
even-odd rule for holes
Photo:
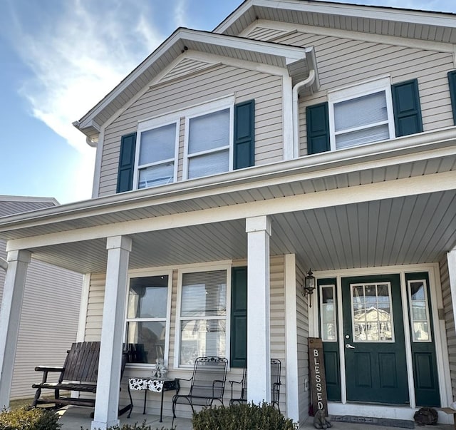
<svg viewBox="0 0 456 430">
<path fill-rule="evenodd" d="M 174 356 L 174 369 L 192 369 L 193 365 L 180 364 L 180 327 L 182 320 L 189 318 L 181 318 L 181 307 L 182 307 L 182 276 L 185 273 L 195 272 L 215 272 L 217 270 L 225 270 L 227 272 L 227 314 L 225 317 L 211 317 L 211 319 L 224 319 L 225 320 L 225 355 L 229 362 L 230 356 L 230 344 L 231 344 L 231 264 L 207 264 L 197 265 L 195 267 L 185 267 L 179 269 L 177 272 L 177 304 L 176 304 L 176 326 L 175 326 L 175 356 Z M 207 317 L 199 317 L 199 319 L 207 319 Z"/>
</svg>

